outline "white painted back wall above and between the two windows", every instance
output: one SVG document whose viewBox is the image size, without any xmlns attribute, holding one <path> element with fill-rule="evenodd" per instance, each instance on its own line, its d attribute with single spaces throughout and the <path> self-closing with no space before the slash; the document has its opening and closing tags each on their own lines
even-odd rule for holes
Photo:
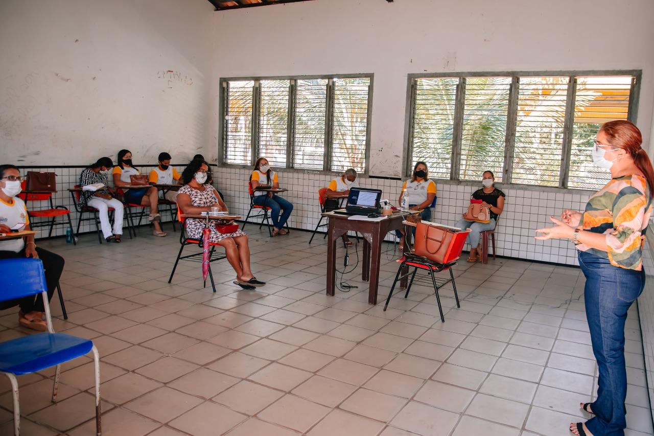
<svg viewBox="0 0 654 436">
<path fill-rule="evenodd" d="M 213 15 L 216 41 L 225 41 L 215 77 L 375 73 L 370 173 L 399 176 L 408 73 L 643 69 L 638 126 L 647 144 L 653 16 L 651 0 L 315 0 L 232 10 Z"/>
</svg>

